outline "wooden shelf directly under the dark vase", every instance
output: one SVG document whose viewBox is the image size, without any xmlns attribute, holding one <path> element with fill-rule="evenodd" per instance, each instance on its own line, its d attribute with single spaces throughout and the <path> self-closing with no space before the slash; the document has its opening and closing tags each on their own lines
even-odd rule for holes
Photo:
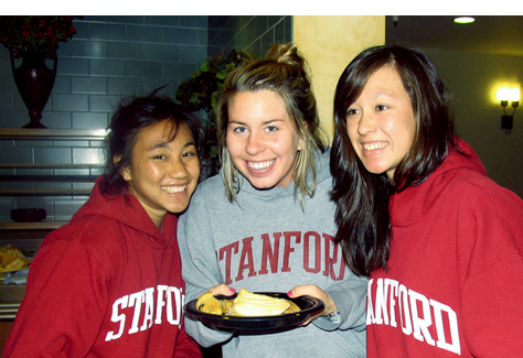
<svg viewBox="0 0 523 358">
<path fill-rule="evenodd" d="M 0 139 L 104 140 L 105 129 L 0 128 Z"/>
</svg>

